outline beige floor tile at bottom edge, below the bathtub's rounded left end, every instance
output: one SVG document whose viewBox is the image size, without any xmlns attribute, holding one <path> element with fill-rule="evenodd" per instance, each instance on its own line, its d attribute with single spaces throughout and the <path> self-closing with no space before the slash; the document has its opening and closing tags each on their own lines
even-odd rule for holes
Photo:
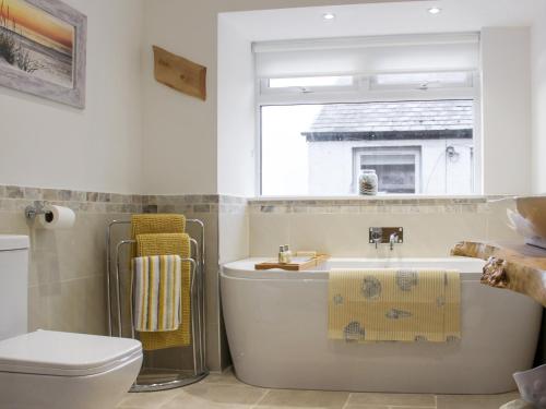
<svg viewBox="0 0 546 409">
<path fill-rule="evenodd" d="M 256 405 L 266 390 L 244 384 L 225 385 L 203 382 L 188 386 L 183 389 L 183 395 L 211 404 Z"/>
</svg>

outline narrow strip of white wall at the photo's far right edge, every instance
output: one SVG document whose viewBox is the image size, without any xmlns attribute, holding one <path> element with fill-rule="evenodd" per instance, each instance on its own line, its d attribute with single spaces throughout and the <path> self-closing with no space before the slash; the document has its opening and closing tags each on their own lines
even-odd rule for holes
<svg viewBox="0 0 546 409">
<path fill-rule="evenodd" d="M 546 193 L 546 3 L 532 32 L 533 192 Z"/>
</svg>

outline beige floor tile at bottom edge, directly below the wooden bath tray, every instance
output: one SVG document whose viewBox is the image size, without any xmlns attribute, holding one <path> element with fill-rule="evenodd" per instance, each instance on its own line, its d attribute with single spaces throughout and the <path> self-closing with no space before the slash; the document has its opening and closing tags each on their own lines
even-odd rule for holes
<svg viewBox="0 0 546 409">
<path fill-rule="evenodd" d="M 328 408 L 341 409 L 348 398 L 345 392 L 272 389 L 258 405 L 265 408 Z"/>
</svg>

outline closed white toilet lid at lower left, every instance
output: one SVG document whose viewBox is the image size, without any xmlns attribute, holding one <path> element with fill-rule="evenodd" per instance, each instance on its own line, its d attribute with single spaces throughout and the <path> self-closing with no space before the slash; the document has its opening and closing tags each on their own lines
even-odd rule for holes
<svg viewBox="0 0 546 409">
<path fill-rule="evenodd" d="M 37 330 L 0 341 L 0 372 L 85 376 L 141 356 L 134 339 Z"/>
</svg>

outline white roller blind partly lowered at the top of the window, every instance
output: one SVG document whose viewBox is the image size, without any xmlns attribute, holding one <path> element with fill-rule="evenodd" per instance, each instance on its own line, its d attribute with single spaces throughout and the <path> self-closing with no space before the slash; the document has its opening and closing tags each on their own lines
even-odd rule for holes
<svg viewBox="0 0 546 409">
<path fill-rule="evenodd" d="M 254 43 L 257 76 L 476 70 L 478 34 Z"/>
</svg>

